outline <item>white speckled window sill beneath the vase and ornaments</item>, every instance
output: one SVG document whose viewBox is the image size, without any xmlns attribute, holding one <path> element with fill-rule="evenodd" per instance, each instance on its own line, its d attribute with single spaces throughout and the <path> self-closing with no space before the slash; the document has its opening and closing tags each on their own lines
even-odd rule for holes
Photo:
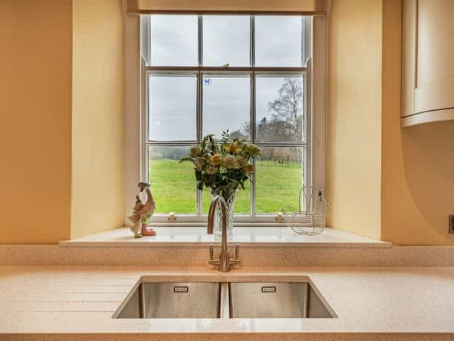
<svg viewBox="0 0 454 341">
<path fill-rule="evenodd" d="M 153 237 L 134 238 L 130 229 L 111 229 L 60 242 L 60 247 L 200 247 L 218 244 L 205 227 L 155 227 Z M 233 241 L 242 247 L 388 248 L 389 242 L 327 228 L 304 236 L 288 227 L 233 227 Z"/>
</svg>

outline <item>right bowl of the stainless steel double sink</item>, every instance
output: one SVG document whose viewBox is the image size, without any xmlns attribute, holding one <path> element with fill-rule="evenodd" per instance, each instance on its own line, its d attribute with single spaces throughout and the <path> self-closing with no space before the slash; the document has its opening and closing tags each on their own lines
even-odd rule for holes
<svg viewBox="0 0 454 341">
<path fill-rule="evenodd" d="M 231 318 L 333 318 L 311 285 L 229 283 Z"/>
</svg>

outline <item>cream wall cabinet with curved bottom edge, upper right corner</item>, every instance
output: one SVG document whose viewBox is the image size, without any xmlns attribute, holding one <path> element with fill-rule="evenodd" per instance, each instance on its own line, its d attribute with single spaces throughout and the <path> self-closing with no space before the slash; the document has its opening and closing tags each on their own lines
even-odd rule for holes
<svg viewBox="0 0 454 341">
<path fill-rule="evenodd" d="M 404 0 L 402 126 L 454 120 L 454 0 Z"/>
</svg>

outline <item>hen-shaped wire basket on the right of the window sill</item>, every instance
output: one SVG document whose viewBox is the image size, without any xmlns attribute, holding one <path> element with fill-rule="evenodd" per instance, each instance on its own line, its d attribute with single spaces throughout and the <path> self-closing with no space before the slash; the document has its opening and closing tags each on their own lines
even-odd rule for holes
<svg viewBox="0 0 454 341">
<path fill-rule="evenodd" d="M 324 190 L 314 191 L 311 186 L 299 190 L 299 208 L 282 207 L 284 220 L 298 234 L 314 236 L 321 234 L 326 227 L 326 210 L 329 210 L 328 200 Z"/>
</svg>

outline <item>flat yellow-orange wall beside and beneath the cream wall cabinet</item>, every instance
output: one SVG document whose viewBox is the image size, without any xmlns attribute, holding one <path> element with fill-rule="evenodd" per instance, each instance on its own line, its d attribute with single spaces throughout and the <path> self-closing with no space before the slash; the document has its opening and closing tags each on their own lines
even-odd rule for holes
<svg viewBox="0 0 454 341">
<path fill-rule="evenodd" d="M 402 4 L 383 4 L 382 239 L 454 244 L 454 122 L 400 127 Z"/>
</svg>

